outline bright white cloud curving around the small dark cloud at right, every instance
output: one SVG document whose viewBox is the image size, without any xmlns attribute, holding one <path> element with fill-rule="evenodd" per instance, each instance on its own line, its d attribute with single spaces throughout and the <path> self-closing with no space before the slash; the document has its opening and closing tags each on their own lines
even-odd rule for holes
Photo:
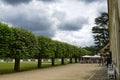
<svg viewBox="0 0 120 80">
<path fill-rule="evenodd" d="M 63 4 L 58 5 L 58 9 L 66 12 L 67 19 L 78 18 L 80 16 L 88 18 L 89 23 L 83 26 L 79 31 L 57 31 L 56 36 L 53 39 L 68 42 L 77 46 L 89 46 L 94 44 L 92 36 L 92 27 L 94 26 L 94 19 L 99 15 L 100 12 L 107 10 L 107 4 L 105 1 L 94 2 L 91 4 L 86 4 L 83 2 L 64 1 Z M 99 6 L 98 6 L 99 5 Z M 72 17 L 71 17 L 72 16 Z"/>
</svg>

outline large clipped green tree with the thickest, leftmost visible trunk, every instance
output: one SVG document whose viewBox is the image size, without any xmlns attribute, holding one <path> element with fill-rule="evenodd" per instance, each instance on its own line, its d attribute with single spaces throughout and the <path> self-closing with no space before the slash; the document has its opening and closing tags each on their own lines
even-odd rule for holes
<svg viewBox="0 0 120 80">
<path fill-rule="evenodd" d="M 10 58 L 15 59 L 14 71 L 20 70 L 20 59 L 34 55 L 36 49 L 36 37 L 32 32 L 12 27 L 12 41 L 10 42 Z"/>
</svg>

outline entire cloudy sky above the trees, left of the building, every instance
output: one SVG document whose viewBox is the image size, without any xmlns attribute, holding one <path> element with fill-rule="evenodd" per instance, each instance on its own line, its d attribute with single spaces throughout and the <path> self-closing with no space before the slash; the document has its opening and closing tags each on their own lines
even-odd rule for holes
<svg viewBox="0 0 120 80">
<path fill-rule="evenodd" d="M 94 44 L 94 18 L 107 0 L 0 0 L 0 21 L 77 46 Z"/>
</svg>

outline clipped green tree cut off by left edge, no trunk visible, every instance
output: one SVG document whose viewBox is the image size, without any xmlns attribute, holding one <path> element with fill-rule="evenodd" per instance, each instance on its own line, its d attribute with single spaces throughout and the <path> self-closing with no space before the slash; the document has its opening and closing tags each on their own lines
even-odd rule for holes
<svg viewBox="0 0 120 80">
<path fill-rule="evenodd" d="M 9 43 L 11 41 L 11 29 L 8 25 L 0 22 L 0 58 L 9 56 Z"/>
</svg>

